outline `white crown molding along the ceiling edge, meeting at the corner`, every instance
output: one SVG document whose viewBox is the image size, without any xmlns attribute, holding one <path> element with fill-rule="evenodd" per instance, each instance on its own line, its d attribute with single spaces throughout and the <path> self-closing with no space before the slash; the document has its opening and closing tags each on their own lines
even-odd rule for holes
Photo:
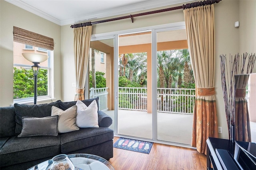
<svg viewBox="0 0 256 170">
<path fill-rule="evenodd" d="M 174 4 L 181 4 L 181 3 L 187 3 L 192 0 L 150 0 L 150 1 L 144 1 L 137 4 L 124 6 L 121 8 L 113 8 L 113 10 L 105 10 L 99 12 L 95 12 L 94 14 L 88 15 L 88 16 L 81 16 L 77 18 L 70 18 L 66 20 L 58 20 L 57 18 L 54 18 L 53 16 L 50 16 L 49 14 L 42 12 L 33 6 L 30 6 L 23 1 L 20 0 L 6 0 L 7 2 L 14 4 L 15 6 L 18 6 L 24 10 L 27 10 L 33 14 L 36 14 L 46 20 L 49 20 L 55 24 L 58 24 L 60 26 L 68 25 L 68 24 L 76 24 L 80 22 L 88 22 L 90 20 L 100 19 L 100 18 L 106 18 L 111 16 L 117 16 L 122 14 L 128 14 L 132 12 L 138 12 L 142 10 L 149 10 L 152 8 L 159 8 L 163 6 L 169 6 Z"/>
</svg>

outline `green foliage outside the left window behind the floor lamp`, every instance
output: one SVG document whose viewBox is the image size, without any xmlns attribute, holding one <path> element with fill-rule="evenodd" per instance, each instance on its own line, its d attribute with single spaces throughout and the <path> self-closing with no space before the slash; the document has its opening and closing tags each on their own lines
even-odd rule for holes
<svg viewBox="0 0 256 170">
<path fill-rule="evenodd" d="M 34 74 L 32 69 L 13 68 L 13 98 L 34 96 Z M 37 76 L 37 95 L 48 95 L 48 70 L 40 69 Z"/>
</svg>

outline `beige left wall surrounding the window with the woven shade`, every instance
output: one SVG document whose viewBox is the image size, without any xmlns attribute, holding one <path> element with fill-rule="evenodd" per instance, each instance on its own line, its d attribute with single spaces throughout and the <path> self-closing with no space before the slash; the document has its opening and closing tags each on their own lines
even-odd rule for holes
<svg viewBox="0 0 256 170">
<path fill-rule="evenodd" d="M 54 94 L 60 100 L 60 26 L 0 0 L 0 106 L 13 104 L 13 26 L 54 39 Z"/>
</svg>

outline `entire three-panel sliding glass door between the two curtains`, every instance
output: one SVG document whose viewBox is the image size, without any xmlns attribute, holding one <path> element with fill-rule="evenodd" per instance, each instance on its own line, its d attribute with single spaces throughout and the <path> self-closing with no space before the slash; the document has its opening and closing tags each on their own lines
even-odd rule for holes
<svg viewBox="0 0 256 170">
<path fill-rule="evenodd" d="M 195 88 L 184 22 L 106 37 L 92 38 L 90 58 L 90 78 L 105 78 L 106 91 L 91 82 L 90 96 L 105 95 L 115 135 L 189 147 Z"/>
</svg>

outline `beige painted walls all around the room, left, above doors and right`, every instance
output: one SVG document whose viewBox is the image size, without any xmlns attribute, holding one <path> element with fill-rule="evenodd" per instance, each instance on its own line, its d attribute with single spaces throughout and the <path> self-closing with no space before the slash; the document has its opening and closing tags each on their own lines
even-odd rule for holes
<svg viewBox="0 0 256 170">
<path fill-rule="evenodd" d="M 171 6 L 166 6 L 165 8 L 169 7 Z M 237 52 L 245 50 L 251 50 L 252 52 L 256 51 L 256 15 L 255 11 L 253 11 L 255 10 L 255 1 L 222 0 L 220 3 L 215 4 L 214 8 L 216 33 L 216 105 L 218 123 L 219 126 L 222 126 L 223 131 L 223 133 L 220 134 L 220 138 L 228 138 L 220 78 L 220 55 L 234 55 Z M 0 9 L 0 105 L 8 106 L 12 104 L 12 26 L 18 26 L 20 28 L 54 38 L 54 82 L 56 98 L 60 99 L 62 97 L 64 101 L 74 100 L 75 88 L 72 87 L 72 82 L 75 82 L 73 57 L 74 46 L 73 29 L 70 28 L 70 25 L 61 26 L 60 28 L 60 26 L 57 26 L 52 22 L 46 21 L 5 1 L 0 1 Z M 248 19 L 248 15 L 252 15 L 250 16 L 250 19 Z M 24 18 L 30 19 L 25 20 Z M 234 22 L 238 20 L 240 21 L 240 28 L 234 28 Z M 171 12 L 136 17 L 134 18 L 134 23 L 132 23 L 130 19 L 125 19 L 96 24 L 92 26 L 92 34 L 181 21 L 184 21 L 183 11 L 175 10 Z M 246 22 L 245 27 L 243 27 L 244 22 Z"/>
</svg>

